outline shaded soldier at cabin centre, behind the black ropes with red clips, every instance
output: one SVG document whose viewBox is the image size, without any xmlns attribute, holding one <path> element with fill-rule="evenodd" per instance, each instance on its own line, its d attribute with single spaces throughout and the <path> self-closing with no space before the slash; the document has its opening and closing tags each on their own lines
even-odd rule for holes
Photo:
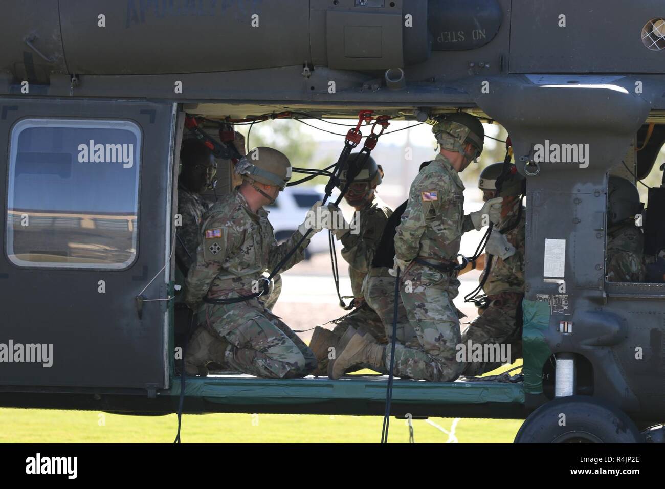
<svg viewBox="0 0 665 489">
<path fill-rule="evenodd" d="M 378 244 L 388 218 L 392 214 L 390 209 L 376 195 L 376 186 L 381 183 L 383 172 L 371 156 L 366 160 L 362 168 L 356 168 L 359 153 L 348 157 L 348 170 L 341 175 L 340 190 L 346 185 L 346 174 L 356 174 L 352 184 L 349 186 L 344 199 L 355 210 L 354 226 L 344 221 L 342 226 L 334 229 L 335 237 L 342 242 L 342 257 L 348 263 L 348 275 L 351 279 L 351 290 L 353 291 L 353 305 L 355 309 L 337 323 L 332 331 L 323 327 L 315 328 L 310 348 L 319 360 L 319 373 L 327 371 L 329 363 L 329 348 L 336 347 L 339 339 L 349 328 L 362 328 L 370 336 L 368 339 L 386 343 L 386 333 L 381 318 L 366 303 L 362 295 L 362 282 L 367 275 L 376 245 Z M 332 204 L 331 204 L 332 208 Z M 338 216 L 343 219 L 341 211 L 334 208 Z M 362 367 L 360 365 L 359 367 Z"/>
</svg>

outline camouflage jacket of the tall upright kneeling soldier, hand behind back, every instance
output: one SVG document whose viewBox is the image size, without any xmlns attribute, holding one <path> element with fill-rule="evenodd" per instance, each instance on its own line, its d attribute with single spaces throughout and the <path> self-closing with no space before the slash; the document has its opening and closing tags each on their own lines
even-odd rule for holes
<svg viewBox="0 0 665 489">
<path fill-rule="evenodd" d="M 455 260 L 462 234 L 473 229 L 464 216 L 464 184 L 448 158 L 438 154 L 411 184 L 406 210 L 395 234 L 395 254 L 404 261 L 416 257 Z"/>
</svg>

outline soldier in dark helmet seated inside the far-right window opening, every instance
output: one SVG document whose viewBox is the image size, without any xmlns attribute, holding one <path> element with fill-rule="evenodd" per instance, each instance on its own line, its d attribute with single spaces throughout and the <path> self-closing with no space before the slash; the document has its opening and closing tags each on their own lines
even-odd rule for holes
<svg viewBox="0 0 665 489">
<path fill-rule="evenodd" d="M 637 188 L 625 178 L 610 176 L 607 186 L 606 274 L 610 282 L 643 282 L 644 235 L 634 216 L 642 209 Z"/>
</svg>

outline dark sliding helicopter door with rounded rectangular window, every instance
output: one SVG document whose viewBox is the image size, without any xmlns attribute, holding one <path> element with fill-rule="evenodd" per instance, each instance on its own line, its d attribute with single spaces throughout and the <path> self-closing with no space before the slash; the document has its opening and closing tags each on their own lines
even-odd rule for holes
<svg viewBox="0 0 665 489">
<path fill-rule="evenodd" d="M 136 297 L 167 297 L 175 128 L 175 104 L 0 98 L 0 391 L 168 387 L 168 301 Z"/>
</svg>

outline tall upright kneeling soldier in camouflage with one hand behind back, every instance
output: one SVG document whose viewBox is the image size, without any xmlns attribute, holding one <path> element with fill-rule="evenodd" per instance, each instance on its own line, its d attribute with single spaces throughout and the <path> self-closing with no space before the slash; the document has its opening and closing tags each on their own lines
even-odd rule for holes
<svg viewBox="0 0 665 489">
<path fill-rule="evenodd" d="M 440 154 L 411 185 L 409 202 L 395 236 L 395 265 L 403 272 L 400 295 L 418 335 L 418 347 L 396 345 L 397 377 L 453 381 L 464 364 L 455 358 L 460 322 L 452 303 L 460 282 L 454 271 L 462 234 L 499 220 L 500 198 L 464 216 L 464 184 L 458 176 L 483 149 L 485 132 L 477 118 L 451 114 L 432 129 Z M 354 335 L 334 363 L 332 377 L 358 361 L 390 365 L 390 351 Z"/>
</svg>

